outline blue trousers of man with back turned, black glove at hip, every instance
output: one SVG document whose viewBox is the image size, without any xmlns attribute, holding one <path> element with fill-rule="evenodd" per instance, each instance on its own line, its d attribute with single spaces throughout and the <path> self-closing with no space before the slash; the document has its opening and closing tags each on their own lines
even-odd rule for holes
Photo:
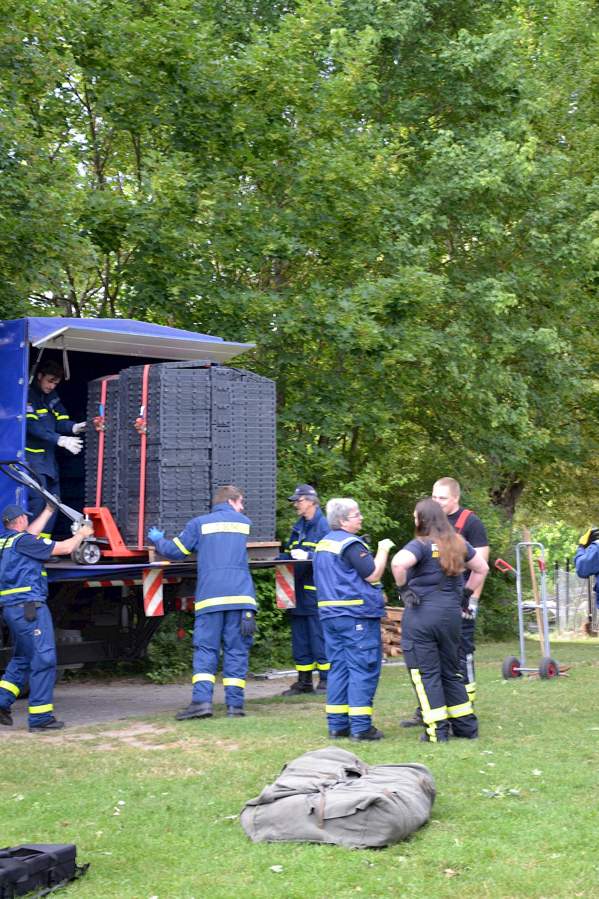
<svg viewBox="0 0 599 899">
<path fill-rule="evenodd" d="M 227 706 L 242 706 L 253 642 L 253 636 L 242 634 L 242 610 L 196 612 L 191 701 L 212 702 L 222 644 L 225 702 Z"/>
</svg>

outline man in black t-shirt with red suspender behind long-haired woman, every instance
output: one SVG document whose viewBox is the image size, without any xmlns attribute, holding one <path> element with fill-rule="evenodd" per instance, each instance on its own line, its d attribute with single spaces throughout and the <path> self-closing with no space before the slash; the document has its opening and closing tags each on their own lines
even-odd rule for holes
<svg viewBox="0 0 599 899">
<path fill-rule="evenodd" d="M 458 534 L 467 540 L 472 547 L 480 551 L 485 562 L 489 562 L 489 538 L 485 526 L 478 515 L 470 509 L 463 509 L 460 505 L 460 485 L 453 477 L 441 477 L 433 485 L 432 497 L 438 503 L 450 524 L 454 525 Z M 476 615 L 479 608 L 480 592 L 483 583 L 470 594 L 468 611 L 462 611 L 462 628 L 460 629 L 460 673 L 464 680 L 464 686 L 471 702 L 476 693 L 476 680 L 474 676 L 474 629 L 476 627 Z M 464 595 L 468 595 L 465 588 Z M 411 718 L 401 721 L 402 727 L 416 727 L 422 725 L 420 709 Z"/>
</svg>

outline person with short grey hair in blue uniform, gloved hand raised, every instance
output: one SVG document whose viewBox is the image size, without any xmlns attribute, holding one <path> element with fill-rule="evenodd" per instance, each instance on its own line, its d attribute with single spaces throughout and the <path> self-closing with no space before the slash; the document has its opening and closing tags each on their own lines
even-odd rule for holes
<svg viewBox="0 0 599 899">
<path fill-rule="evenodd" d="M 329 736 L 351 735 L 356 743 L 382 740 L 384 734 L 372 723 L 372 706 L 383 661 L 380 578 L 394 544 L 381 540 L 373 558 L 357 537 L 362 514 L 354 500 L 330 500 L 327 520 L 330 532 L 316 547 L 313 571 L 330 662 L 325 707 Z"/>
</svg>

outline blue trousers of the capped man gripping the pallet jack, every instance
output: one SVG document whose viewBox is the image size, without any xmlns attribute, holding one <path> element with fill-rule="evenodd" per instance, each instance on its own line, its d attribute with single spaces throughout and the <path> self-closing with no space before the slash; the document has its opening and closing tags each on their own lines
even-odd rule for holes
<svg viewBox="0 0 599 899">
<path fill-rule="evenodd" d="M 22 605 L 4 606 L 4 621 L 13 637 L 13 658 L 0 680 L 0 706 L 11 708 L 29 681 L 29 724 L 43 725 L 52 717 L 57 675 L 57 649 L 50 610 L 44 602 L 35 621 L 25 620 Z"/>
</svg>

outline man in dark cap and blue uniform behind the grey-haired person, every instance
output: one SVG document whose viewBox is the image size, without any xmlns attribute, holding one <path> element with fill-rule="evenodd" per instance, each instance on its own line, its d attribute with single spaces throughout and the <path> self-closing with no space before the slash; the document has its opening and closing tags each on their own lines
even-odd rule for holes
<svg viewBox="0 0 599 899">
<path fill-rule="evenodd" d="M 288 497 L 298 516 L 291 529 L 285 552 L 279 559 L 312 559 L 318 542 L 329 532 L 329 524 L 321 512 L 318 494 L 309 484 L 300 484 Z M 318 669 L 317 693 L 326 693 L 330 664 L 324 648 L 322 624 L 316 605 L 312 565 L 294 565 L 295 609 L 289 609 L 291 646 L 297 681 L 283 696 L 313 693 L 312 672 Z"/>
</svg>

